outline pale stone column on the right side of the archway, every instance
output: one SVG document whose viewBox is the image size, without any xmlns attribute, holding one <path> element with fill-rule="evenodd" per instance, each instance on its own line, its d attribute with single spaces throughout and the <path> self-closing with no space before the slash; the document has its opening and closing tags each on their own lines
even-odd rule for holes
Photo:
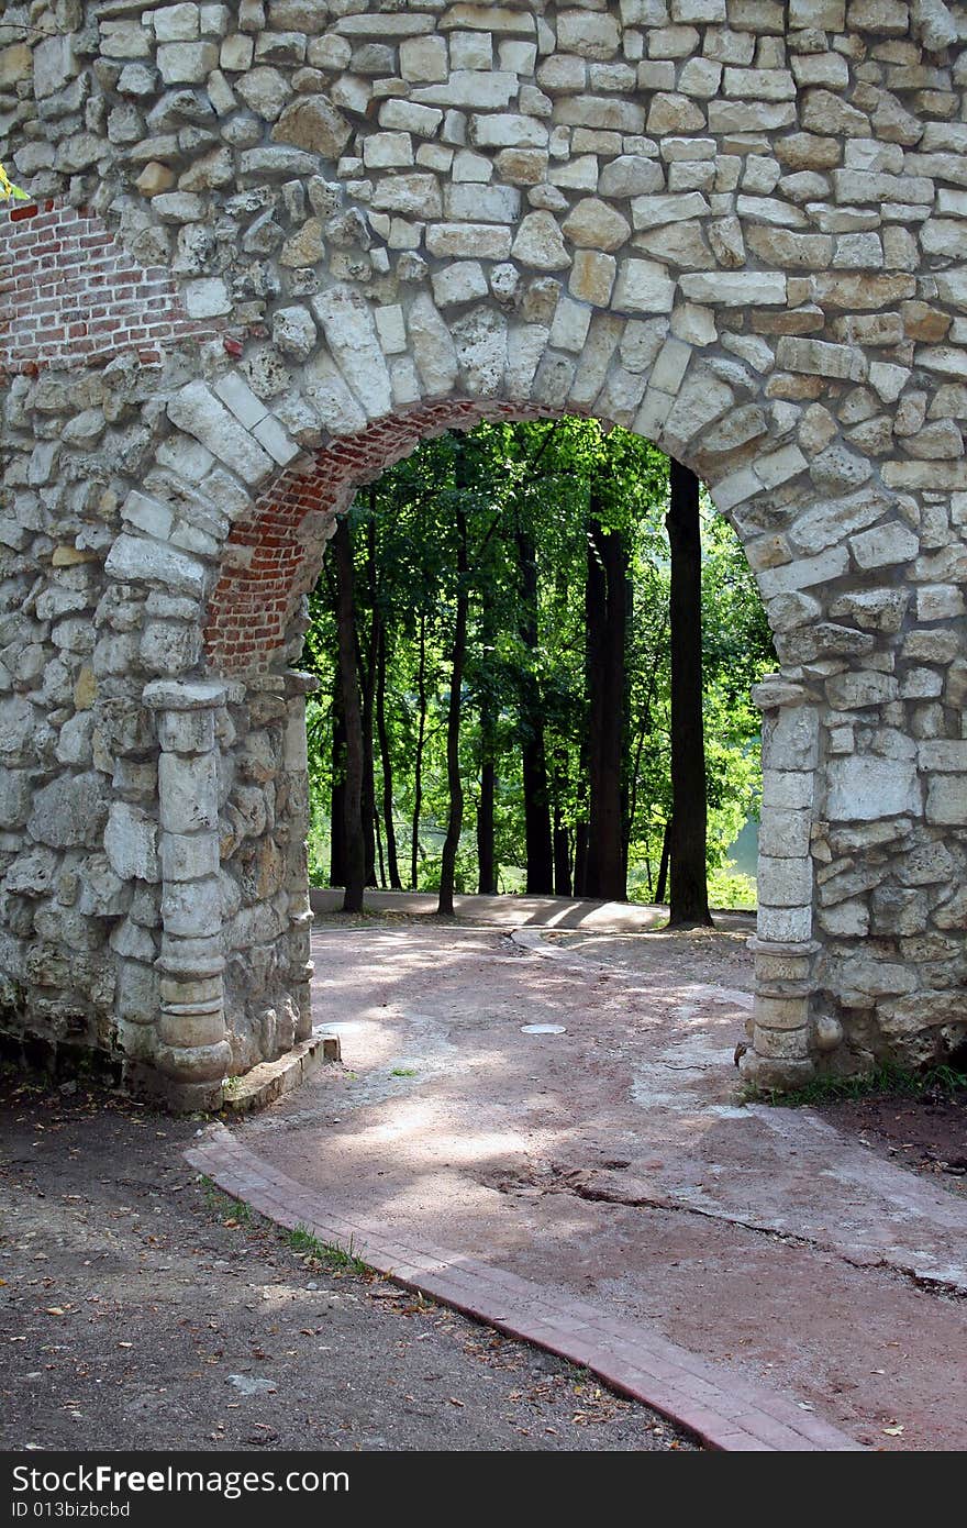
<svg viewBox="0 0 967 1528">
<path fill-rule="evenodd" d="M 805 685 L 770 674 L 753 686 L 762 711 L 762 821 L 752 1047 L 742 1076 L 790 1086 L 813 1076 L 810 998 L 813 940 L 810 853 L 819 769 L 819 706 Z"/>
</svg>

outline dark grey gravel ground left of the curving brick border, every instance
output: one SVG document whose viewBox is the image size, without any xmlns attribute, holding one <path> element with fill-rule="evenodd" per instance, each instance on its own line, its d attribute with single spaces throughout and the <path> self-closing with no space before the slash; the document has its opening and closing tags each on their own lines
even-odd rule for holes
<svg viewBox="0 0 967 1528">
<path fill-rule="evenodd" d="M 0 1076 L 0 1449 L 687 1450 L 585 1371 L 328 1268 L 199 1122 Z"/>
</svg>

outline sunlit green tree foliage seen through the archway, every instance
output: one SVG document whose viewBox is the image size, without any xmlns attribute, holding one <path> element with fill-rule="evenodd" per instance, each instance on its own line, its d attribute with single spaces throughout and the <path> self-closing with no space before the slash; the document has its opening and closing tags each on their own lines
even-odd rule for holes
<svg viewBox="0 0 967 1528">
<path fill-rule="evenodd" d="M 463 454 L 458 481 L 457 457 Z M 464 790 L 457 891 L 478 885 L 478 816 L 486 762 L 493 776 L 493 860 L 501 891 L 526 885 L 522 749 L 544 733 L 547 811 L 555 842 L 574 853 L 587 822 L 587 611 L 590 506 L 620 533 L 629 575 L 623 817 L 628 889 L 654 897 L 669 779 L 668 458 L 622 429 L 564 417 L 481 425 L 440 435 L 361 490 L 350 515 L 356 558 L 361 689 L 382 671 L 383 741 L 373 741 L 376 877 L 388 885 L 383 756 L 402 885 L 437 889 L 449 811 L 446 732 L 457 616 L 457 535 L 467 541 L 467 652 L 461 685 L 460 772 Z M 703 662 L 709 865 L 759 796 L 758 712 L 749 691 L 773 659 L 745 556 L 703 494 Z M 536 640 L 522 617 L 521 549 L 538 571 Z M 309 701 L 310 879 L 328 883 L 336 694 L 335 581 L 322 570 L 310 599 L 304 665 L 321 681 Z M 376 614 L 376 622 L 374 622 Z M 377 651 L 373 654 L 376 626 Z M 536 697 L 536 701 L 535 701 Z M 530 730 L 529 730 L 530 729 Z M 484 795 L 484 814 L 487 792 Z"/>
</svg>

